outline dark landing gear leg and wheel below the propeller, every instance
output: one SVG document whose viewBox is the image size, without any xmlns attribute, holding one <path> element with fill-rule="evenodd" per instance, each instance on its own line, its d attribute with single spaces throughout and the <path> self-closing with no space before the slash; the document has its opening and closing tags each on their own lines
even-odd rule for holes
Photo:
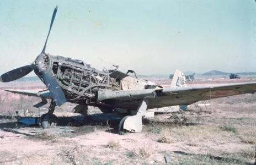
<svg viewBox="0 0 256 165">
<path fill-rule="evenodd" d="M 41 116 L 41 126 L 46 129 L 49 127 L 54 127 L 58 123 L 57 117 L 53 114 L 56 107 L 56 102 L 54 100 L 51 101 L 49 111 L 46 114 Z"/>
</svg>

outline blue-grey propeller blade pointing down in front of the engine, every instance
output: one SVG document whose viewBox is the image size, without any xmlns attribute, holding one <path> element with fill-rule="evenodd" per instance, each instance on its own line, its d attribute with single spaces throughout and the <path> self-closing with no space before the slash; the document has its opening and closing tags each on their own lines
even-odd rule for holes
<svg viewBox="0 0 256 165">
<path fill-rule="evenodd" d="M 61 107 L 66 103 L 66 97 L 56 79 L 46 70 L 42 70 L 42 79 L 54 98 L 56 104 Z M 62 106 L 63 107 L 63 106 Z"/>
</svg>

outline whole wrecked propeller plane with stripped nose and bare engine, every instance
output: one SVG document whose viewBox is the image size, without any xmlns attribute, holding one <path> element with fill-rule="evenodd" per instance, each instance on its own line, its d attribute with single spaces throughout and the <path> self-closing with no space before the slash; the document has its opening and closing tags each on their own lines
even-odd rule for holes
<svg viewBox="0 0 256 165">
<path fill-rule="evenodd" d="M 87 116 L 88 106 L 98 107 L 103 113 L 117 112 L 123 117 L 119 133 L 131 131 L 140 133 L 142 118 L 158 108 L 168 111 L 180 109 L 198 101 L 228 97 L 241 94 L 254 94 L 256 83 L 239 83 L 215 86 L 188 86 L 185 75 L 176 70 L 170 87 L 162 87 L 151 81 L 137 78 L 134 71 L 122 73 L 116 69 L 99 71 L 78 59 L 52 56 L 45 53 L 47 40 L 54 23 L 57 6 L 52 15 L 50 29 L 44 48 L 30 65 L 11 70 L 0 77 L 2 83 L 17 80 L 34 71 L 46 85 L 47 91 L 25 91 L 5 89 L 6 91 L 40 97 L 41 102 L 34 107 L 46 105 L 51 100 L 49 112 L 41 116 L 42 128 L 49 128 L 55 107 L 65 107 L 66 102 L 78 104 L 75 112 Z M 134 73 L 135 78 L 128 73 Z M 170 109 L 170 110 L 169 110 Z M 167 111 L 167 112 L 168 112 Z"/>
</svg>

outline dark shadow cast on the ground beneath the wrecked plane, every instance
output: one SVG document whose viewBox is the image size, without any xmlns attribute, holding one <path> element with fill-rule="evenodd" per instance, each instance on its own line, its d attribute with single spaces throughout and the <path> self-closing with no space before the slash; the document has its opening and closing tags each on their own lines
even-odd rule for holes
<svg viewBox="0 0 256 165">
<path fill-rule="evenodd" d="M 30 118 L 31 121 L 39 118 L 36 117 L 20 117 L 20 116 L 2 116 L 0 120 L 0 130 L 8 131 L 8 129 L 19 129 L 19 128 L 41 128 L 38 123 L 31 123 L 26 125 L 24 123 L 18 122 L 19 120 Z M 87 119 L 84 120 L 84 116 L 71 116 L 71 117 L 58 117 L 59 127 L 72 127 L 73 130 L 77 131 L 76 134 L 89 133 L 94 131 L 95 128 L 105 129 L 106 132 L 111 134 L 119 134 L 119 122 L 121 118 L 115 113 L 99 113 L 88 115 Z M 36 121 L 36 120 L 35 120 Z M 71 124 L 72 123 L 72 124 Z M 164 122 L 153 122 L 150 119 L 143 119 L 142 124 L 146 126 L 152 126 L 154 124 L 177 124 L 169 120 Z M 70 125 L 71 124 L 71 125 Z M 184 126 L 196 125 L 195 123 L 179 123 Z M 18 131 L 13 131 L 13 133 L 19 133 Z M 26 134 L 31 136 L 29 134 Z"/>
</svg>

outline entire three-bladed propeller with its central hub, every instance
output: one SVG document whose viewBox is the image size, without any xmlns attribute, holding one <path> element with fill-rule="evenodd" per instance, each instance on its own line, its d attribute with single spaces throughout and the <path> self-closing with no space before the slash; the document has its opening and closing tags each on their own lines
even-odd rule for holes
<svg viewBox="0 0 256 165">
<path fill-rule="evenodd" d="M 49 32 L 48 32 L 48 35 L 47 35 L 47 38 L 45 41 L 44 48 L 42 49 L 42 52 L 39 54 L 39 56 L 36 58 L 36 60 L 30 65 L 25 65 L 24 67 L 13 69 L 7 73 L 2 74 L 0 76 L 0 81 L 2 83 L 14 81 L 14 80 L 22 78 L 23 76 L 29 74 L 30 72 L 32 72 L 34 70 L 34 72 L 38 76 L 40 76 L 40 78 L 42 78 L 42 80 L 44 80 L 44 83 L 47 86 L 47 89 L 50 91 L 50 94 L 54 98 L 54 101 L 56 102 L 56 104 L 60 107 L 63 107 L 66 103 L 66 97 L 65 97 L 60 85 L 54 78 L 54 76 L 52 76 L 46 70 L 46 66 L 45 66 L 45 58 L 47 58 L 47 56 L 45 55 L 45 48 L 47 45 L 48 37 L 51 32 L 51 27 L 54 24 L 54 19 L 55 19 L 55 15 L 57 13 L 57 9 L 58 9 L 58 7 L 56 6 L 56 8 L 54 9 L 54 13 L 52 14 L 50 29 L 49 29 Z"/>
</svg>

